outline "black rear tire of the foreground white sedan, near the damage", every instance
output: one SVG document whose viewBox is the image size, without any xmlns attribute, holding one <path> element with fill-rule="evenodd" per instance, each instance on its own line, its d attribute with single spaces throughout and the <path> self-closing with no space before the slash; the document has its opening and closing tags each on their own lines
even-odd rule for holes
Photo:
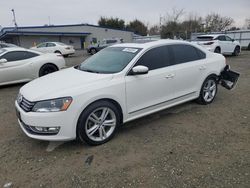
<svg viewBox="0 0 250 188">
<path fill-rule="evenodd" d="M 208 86 L 209 82 L 214 84 L 215 91 L 212 91 L 212 90 L 210 91 L 210 88 L 212 87 L 212 85 L 211 85 L 211 87 L 209 87 Z M 215 75 L 211 75 L 211 76 L 207 77 L 201 86 L 199 98 L 196 100 L 196 102 L 199 104 L 202 104 L 202 105 L 207 105 L 207 104 L 212 103 L 216 97 L 216 94 L 217 94 L 217 90 L 218 90 L 217 84 L 218 84 L 218 81 L 217 81 L 217 77 Z M 207 90 L 209 90 L 209 91 L 207 91 Z M 208 98 L 206 99 L 206 94 L 207 94 L 206 91 L 211 92 L 211 98 L 209 98 L 209 100 L 208 100 Z M 210 97 L 210 95 L 209 95 L 209 97 Z"/>
</svg>

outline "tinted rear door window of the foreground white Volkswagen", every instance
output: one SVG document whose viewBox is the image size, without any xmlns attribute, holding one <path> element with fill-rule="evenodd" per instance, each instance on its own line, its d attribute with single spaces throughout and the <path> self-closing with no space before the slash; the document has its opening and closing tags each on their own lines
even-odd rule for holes
<svg viewBox="0 0 250 188">
<path fill-rule="evenodd" d="M 206 54 L 204 54 L 202 51 L 189 45 L 183 45 L 183 44 L 171 45 L 171 49 L 173 53 L 173 58 L 175 60 L 174 61 L 175 64 L 196 61 L 206 57 Z"/>
</svg>

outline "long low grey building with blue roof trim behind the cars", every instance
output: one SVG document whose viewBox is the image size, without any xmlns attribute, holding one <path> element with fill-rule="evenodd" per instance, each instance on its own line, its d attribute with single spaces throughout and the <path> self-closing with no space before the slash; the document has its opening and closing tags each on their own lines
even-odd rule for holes
<svg viewBox="0 0 250 188">
<path fill-rule="evenodd" d="M 132 42 L 133 32 L 89 24 L 5 27 L 0 31 L 0 41 L 25 48 L 50 41 L 63 42 L 74 46 L 75 49 L 84 49 L 90 43 L 98 43 L 108 38 L 121 38 L 124 42 Z"/>
</svg>

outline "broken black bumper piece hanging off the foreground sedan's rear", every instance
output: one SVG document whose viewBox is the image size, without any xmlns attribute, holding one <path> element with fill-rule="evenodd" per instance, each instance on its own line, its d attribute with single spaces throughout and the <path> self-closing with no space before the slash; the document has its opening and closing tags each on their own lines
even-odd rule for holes
<svg viewBox="0 0 250 188">
<path fill-rule="evenodd" d="M 230 70 L 229 65 L 227 65 L 224 70 L 221 72 L 219 83 L 222 87 L 231 90 L 235 87 L 240 74 Z"/>
</svg>

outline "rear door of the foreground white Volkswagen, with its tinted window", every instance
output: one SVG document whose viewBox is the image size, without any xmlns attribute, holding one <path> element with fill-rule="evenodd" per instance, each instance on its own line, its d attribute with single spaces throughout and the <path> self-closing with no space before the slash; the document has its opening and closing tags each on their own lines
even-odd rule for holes
<svg viewBox="0 0 250 188">
<path fill-rule="evenodd" d="M 175 70 L 174 97 L 182 100 L 197 95 L 206 76 L 206 54 L 187 44 L 171 45 L 170 54 Z"/>
</svg>

